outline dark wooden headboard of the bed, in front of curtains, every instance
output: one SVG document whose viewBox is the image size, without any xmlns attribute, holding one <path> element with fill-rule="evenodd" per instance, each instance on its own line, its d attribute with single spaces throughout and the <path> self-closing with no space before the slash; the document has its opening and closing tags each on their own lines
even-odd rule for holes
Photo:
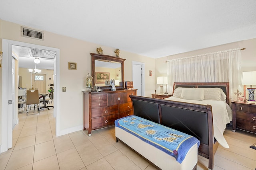
<svg viewBox="0 0 256 170">
<path fill-rule="evenodd" d="M 226 103 L 229 104 L 229 82 L 217 82 L 217 83 L 188 83 L 188 82 L 174 82 L 173 84 L 173 90 L 178 87 L 185 87 L 185 88 L 212 88 L 212 87 L 218 87 L 223 90 L 223 92 L 226 94 Z"/>
</svg>

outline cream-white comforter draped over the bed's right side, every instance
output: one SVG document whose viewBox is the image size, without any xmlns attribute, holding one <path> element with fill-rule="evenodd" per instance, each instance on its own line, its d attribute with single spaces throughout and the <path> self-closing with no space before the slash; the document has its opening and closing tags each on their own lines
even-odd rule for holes
<svg viewBox="0 0 256 170">
<path fill-rule="evenodd" d="M 228 111 L 226 107 L 226 102 L 216 101 L 216 100 L 186 100 L 181 98 L 165 98 L 165 100 L 174 100 L 179 102 L 194 103 L 194 104 L 209 104 L 212 106 L 212 118 L 213 118 L 213 129 L 214 137 L 220 145 L 224 148 L 229 148 L 226 139 L 223 136 L 223 132 L 226 129 L 227 123 L 230 123 L 230 118 L 228 117 Z M 231 118 L 232 119 L 232 118 Z"/>
</svg>

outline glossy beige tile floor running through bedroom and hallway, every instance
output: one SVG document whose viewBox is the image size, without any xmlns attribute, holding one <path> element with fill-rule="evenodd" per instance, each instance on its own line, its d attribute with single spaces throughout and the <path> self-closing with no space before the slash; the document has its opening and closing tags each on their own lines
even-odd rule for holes
<svg viewBox="0 0 256 170">
<path fill-rule="evenodd" d="M 39 115 L 19 114 L 13 129 L 13 147 L 0 154 L 0 170 L 154 170 L 155 168 L 123 145 L 116 143 L 114 127 L 55 135 L 53 109 Z M 227 128 L 229 149 L 221 146 L 215 155 L 214 170 L 254 170 L 256 135 Z M 198 156 L 198 170 L 206 170 L 208 160 Z"/>
</svg>

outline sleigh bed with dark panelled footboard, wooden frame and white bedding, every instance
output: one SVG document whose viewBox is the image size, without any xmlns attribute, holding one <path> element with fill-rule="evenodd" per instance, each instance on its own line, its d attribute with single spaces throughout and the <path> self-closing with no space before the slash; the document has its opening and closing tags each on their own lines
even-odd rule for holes
<svg viewBox="0 0 256 170">
<path fill-rule="evenodd" d="M 177 88 L 195 89 L 195 88 L 220 88 L 226 95 L 225 101 L 222 101 L 222 107 L 226 107 L 226 111 L 218 118 L 215 113 L 218 102 L 213 102 L 213 107 L 208 104 L 206 100 L 194 102 L 194 100 L 180 99 L 178 97 L 171 97 L 166 99 L 147 98 L 141 96 L 130 96 L 134 108 L 134 115 L 143 117 L 150 121 L 160 123 L 172 129 L 182 131 L 186 134 L 192 135 L 200 140 L 198 154 L 209 159 L 209 169 L 213 168 L 214 154 L 218 148 L 219 142 L 223 147 L 228 148 L 223 131 L 226 124 L 230 123 L 232 117 L 230 115 L 229 104 L 229 83 L 174 83 L 174 90 Z M 186 91 L 184 90 L 184 91 Z M 202 90 L 202 89 L 200 89 Z M 213 89 L 208 89 L 214 92 Z M 175 93 L 174 93 L 175 94 Z M 188 92 L 187 94 L 190 94 Z M 194 94 L 194 93 L 193 93 Z M 175 95 L 174 95 L 175 96 Z M 189 96 L 189 95 L 187 95 Z M 198 95 L 194 95 L 198 96 Z M 189 97 L 194 97 L 190 95 Z M 209 96 L 208 96 L 209 97 Z M 210 96 L 211 97 L 211 96 Z M 175 101 L 176 100 L 176 101 Z M 184 101 L 185 100 L 185 101 Z M 223 98 L 222 98 L 223 100 Z M 212 101 L 210 101 L 212 102 Z M 229 108 L 229 109 L 228 109 Z M 222 108 L 223 109 L 223 108 Z M 224 109 L 225 110 L 225 109 Z M 229 111 L 228 111 L 229 110 Z M 216 111 L 218 112 L 218 111 Z M 231 111 L 232 113 L 232 111 Z M 232 114 L 231 114 L 232 115 Z M 214 120 L 213 120 L 214 119 Z M 223 120 L 224 119 L 224 120 Z M 220 122 L 219 122 L 220 121 Z M 220 128 L 218 125 L 220 124 Z"/>
</svg>

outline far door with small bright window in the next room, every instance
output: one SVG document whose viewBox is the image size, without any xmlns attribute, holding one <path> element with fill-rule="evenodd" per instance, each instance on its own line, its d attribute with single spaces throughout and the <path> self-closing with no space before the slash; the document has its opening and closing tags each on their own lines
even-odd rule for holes
<svg viewBox="0 0 256 170">
<path fill-rule="evenodd" d="M 38 93 L 46 94 L 46 74 L 32 74 L 32 88 Z"/>
</svg>

